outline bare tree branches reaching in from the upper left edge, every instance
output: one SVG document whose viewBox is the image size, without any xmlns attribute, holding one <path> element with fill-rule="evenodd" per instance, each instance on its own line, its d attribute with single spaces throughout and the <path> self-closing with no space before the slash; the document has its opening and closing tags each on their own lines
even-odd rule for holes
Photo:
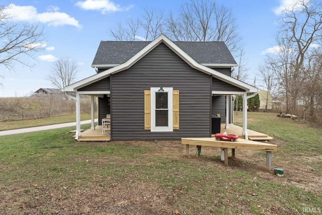
<svg viewBox="0 0 322 215">
<path fill-rule="evenodd" d="M 0 65 L 9 70 L 14 70 L 17 62 L 32 66 L 33 53 L 43 50 L 43 29 L 35 24 L 15 23 L 8 9 L 0 7 Z M 0 73 L 0 77 L 4 78 L 4 74 Z"/>
</svg>

